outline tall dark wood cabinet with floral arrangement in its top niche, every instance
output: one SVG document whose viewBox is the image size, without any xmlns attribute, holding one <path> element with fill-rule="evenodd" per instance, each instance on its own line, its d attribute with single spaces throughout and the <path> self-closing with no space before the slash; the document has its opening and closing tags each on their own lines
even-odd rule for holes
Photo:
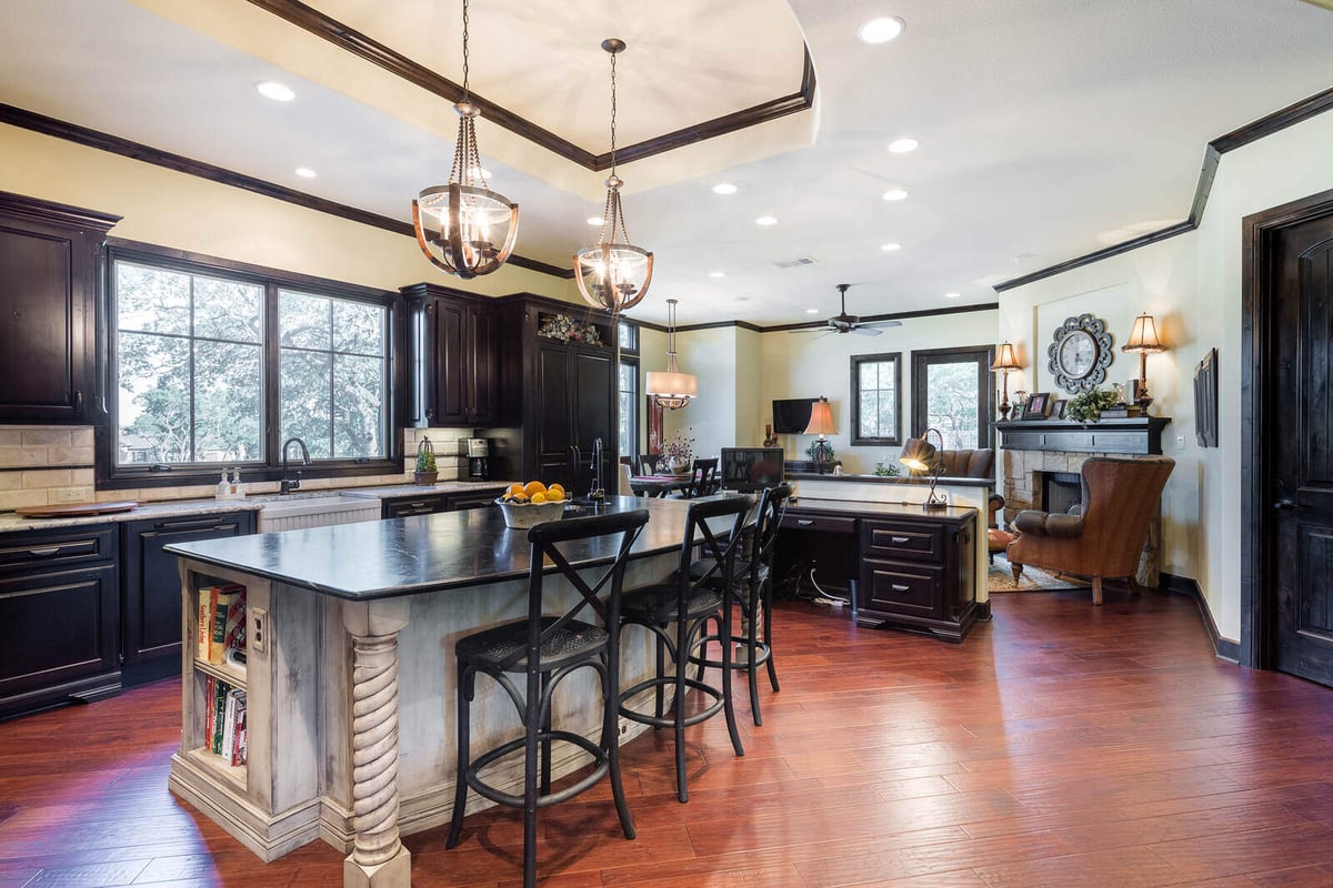
<svg viewBox="0 0 1333 888">
<path fill-rule="evenodd" d="M 559 482 L 575 497 L 593 487 L 601 439 L 603 487 L 616 490 L 616 325 L 601 312 L 533 296 L 497 300 L 500 422 L 481 434 L 493 443 L 491 475 Z M 565 338 L 543 335 L 564 318 Z M 591 341 L 596 337 L 596 341 Z"/>
</svg>

